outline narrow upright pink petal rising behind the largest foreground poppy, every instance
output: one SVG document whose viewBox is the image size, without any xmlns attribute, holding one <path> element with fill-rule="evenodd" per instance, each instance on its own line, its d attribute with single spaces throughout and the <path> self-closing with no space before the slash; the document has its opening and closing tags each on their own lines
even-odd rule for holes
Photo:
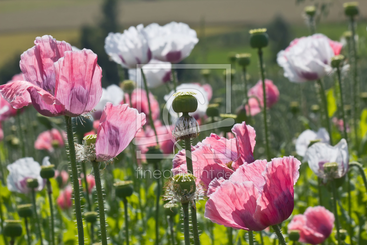
<svg viewBox="0 0 367 245">
<path fill-rule="evenodd" d="M 254 162 L 254 148 L 256 144 L 256 132 L 253 127 L 246 125 L 246 122 L 237 123 L 233 126 L 232 132 L 235 134 L 238 142 L 238 152 L 240 158 L 232 163 L 232 168 L 236 170 L 244 163 Z"/>
</svg>

